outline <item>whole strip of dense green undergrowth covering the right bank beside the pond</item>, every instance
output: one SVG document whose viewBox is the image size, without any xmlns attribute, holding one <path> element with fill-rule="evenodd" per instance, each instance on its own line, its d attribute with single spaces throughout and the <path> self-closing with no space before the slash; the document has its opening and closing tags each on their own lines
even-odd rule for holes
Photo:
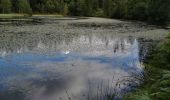
<svg viewBox="0 0 170 100">
<path fill-rule="evenodd" d="M 124 100 L 170 100 L 170 36 L 155 48 L 146 71 L 144 84 Z"/>
</svg>

